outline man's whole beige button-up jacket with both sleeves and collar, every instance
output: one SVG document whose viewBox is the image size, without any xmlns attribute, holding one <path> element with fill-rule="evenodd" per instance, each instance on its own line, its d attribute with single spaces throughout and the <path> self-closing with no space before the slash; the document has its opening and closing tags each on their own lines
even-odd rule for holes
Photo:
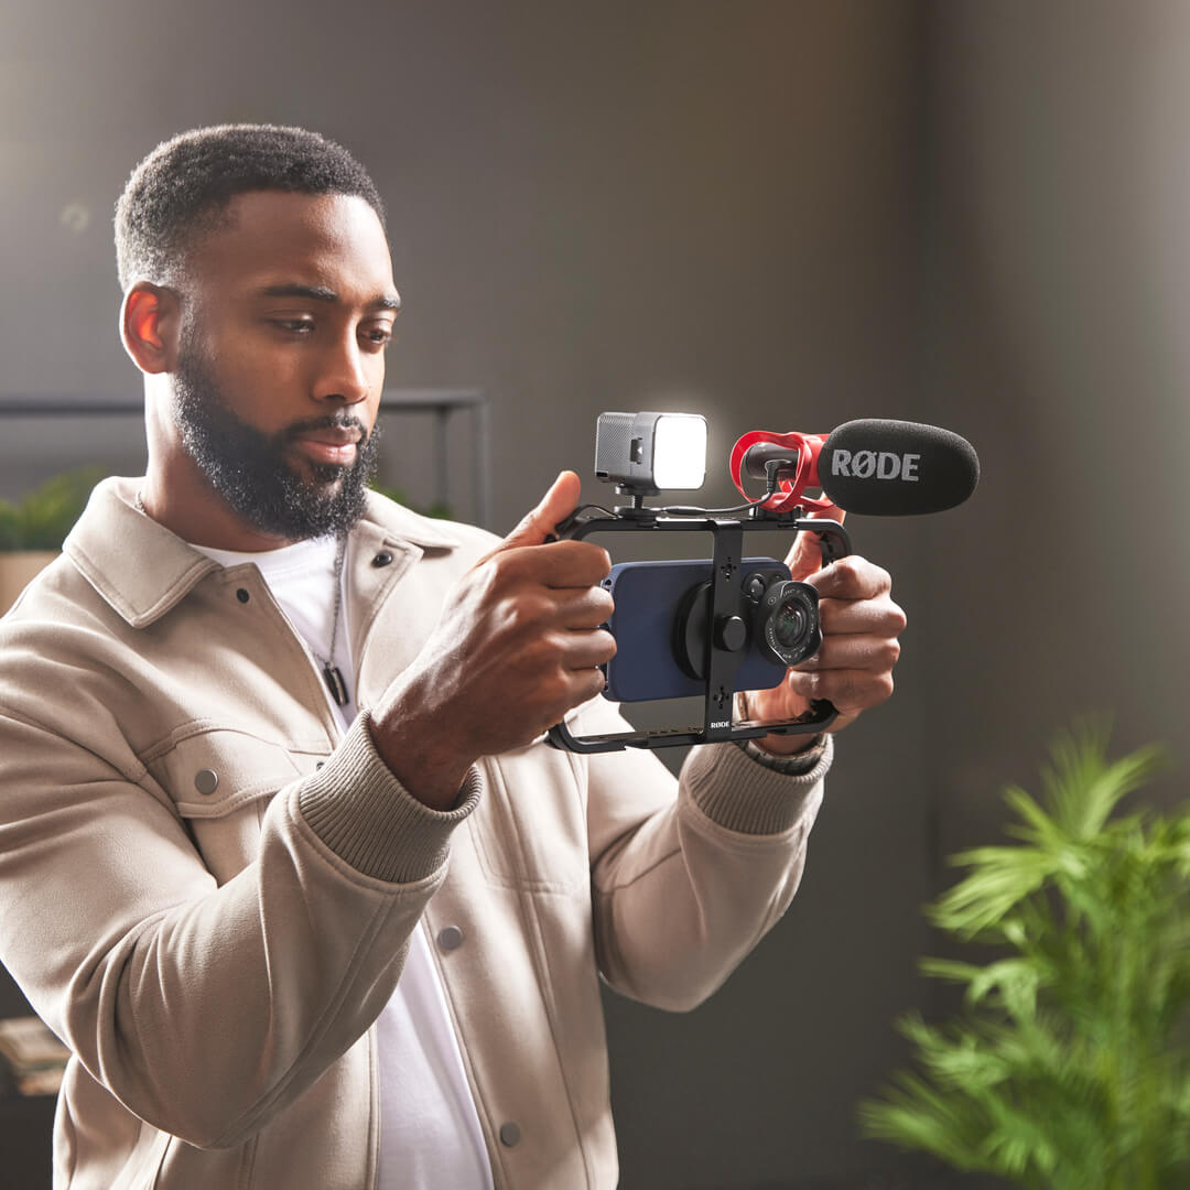
<svg viewBox="0 0 1190 1190">
<path fill-rule="evenodd" d="M 0 621 L 0 962 L 74 1057 L 58 1190 L 369 1190 L 371 1023 L 421 919 L 497 1188 L 616 1182 L 599 976 L 684 1009 L 789 903 L 804 777 L 732 745 L 679 788 L 544 744 L 421 806 L 367 707 L 493 538 L 381 497 L 351 534 L 342 737 L 257 569 L 101 484 Z M 499 708 L 493 708 L 499 714 Z M 620 729 L 602 700 L 578 732 Z"/>
</svg>

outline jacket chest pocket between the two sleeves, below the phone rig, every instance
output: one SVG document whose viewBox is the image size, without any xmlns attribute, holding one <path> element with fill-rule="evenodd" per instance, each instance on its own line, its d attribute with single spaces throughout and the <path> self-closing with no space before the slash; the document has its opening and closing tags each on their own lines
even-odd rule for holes
<svg viewBox="0 0 1190 1190">
<path fill-rule="evenodd" d="M 544 892 L 587 890 L 587 788 L 570 754 L 531 744 L 481 763 L 487 791 L 468 821 L 488 878 Z"/>
</svg>

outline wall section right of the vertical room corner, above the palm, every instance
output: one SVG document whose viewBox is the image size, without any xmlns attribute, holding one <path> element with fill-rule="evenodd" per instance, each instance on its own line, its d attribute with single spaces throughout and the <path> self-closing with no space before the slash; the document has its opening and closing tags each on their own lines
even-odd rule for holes
<svg viewBox="0 0 1190 1190">
<path fill-rule="evenodd" d="M 1190 6 L 959 0 L 931 37 L 920 388 L 984 463 L 919 620 L 946 852 L 1076 715 L 1184 796 Z"/>
</svg>

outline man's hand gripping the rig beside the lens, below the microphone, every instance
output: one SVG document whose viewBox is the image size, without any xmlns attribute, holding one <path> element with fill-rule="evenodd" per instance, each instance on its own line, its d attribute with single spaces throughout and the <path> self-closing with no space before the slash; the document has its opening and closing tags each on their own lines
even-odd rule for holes
<svg viewBox="0 0 1190 1190">
<path fill-rule="evenodd" d="M 841 521 L 843 511 L 832 509 L 832 516 Z M 813 533 L 798 533 L 785 562 L 794 578 L 818 590 L 822 645 L 789 670 L 779 685 L 749 691 L 749 718 L 795 719 L 809 709 L 812 699 L 828 699 L 839 716 L 827 731 L 837 732 L 892 694 L 904 612 L 892 602 L 892 580 L 887 570 L 856 555 L 822 568 L 819 539 Z M 814 739 L 765 735 L 757 743 L 766 752 L 791 754 Z"/>
</svg>

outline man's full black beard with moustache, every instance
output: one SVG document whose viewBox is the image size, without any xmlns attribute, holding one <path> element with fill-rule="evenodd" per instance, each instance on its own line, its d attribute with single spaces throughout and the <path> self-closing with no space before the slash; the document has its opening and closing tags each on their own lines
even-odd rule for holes
<svg viewBox="0 0 1190 1190">
<path fill-rule="evenodd" d="M 343 534 L 363 515 L 376 470 L 380 427 L 369 434 L 347 409 L 264 433 L 240 420 L 193 346 L 183 349 L 174 376 L 174 415 L 182 446 L 232 511 L 261 533 L 300 541 Z M 301 434 L 328 428 L 364 437 L 350 466 L 309 463 L 299 475 L 287 459 Z"/>
</svg>

